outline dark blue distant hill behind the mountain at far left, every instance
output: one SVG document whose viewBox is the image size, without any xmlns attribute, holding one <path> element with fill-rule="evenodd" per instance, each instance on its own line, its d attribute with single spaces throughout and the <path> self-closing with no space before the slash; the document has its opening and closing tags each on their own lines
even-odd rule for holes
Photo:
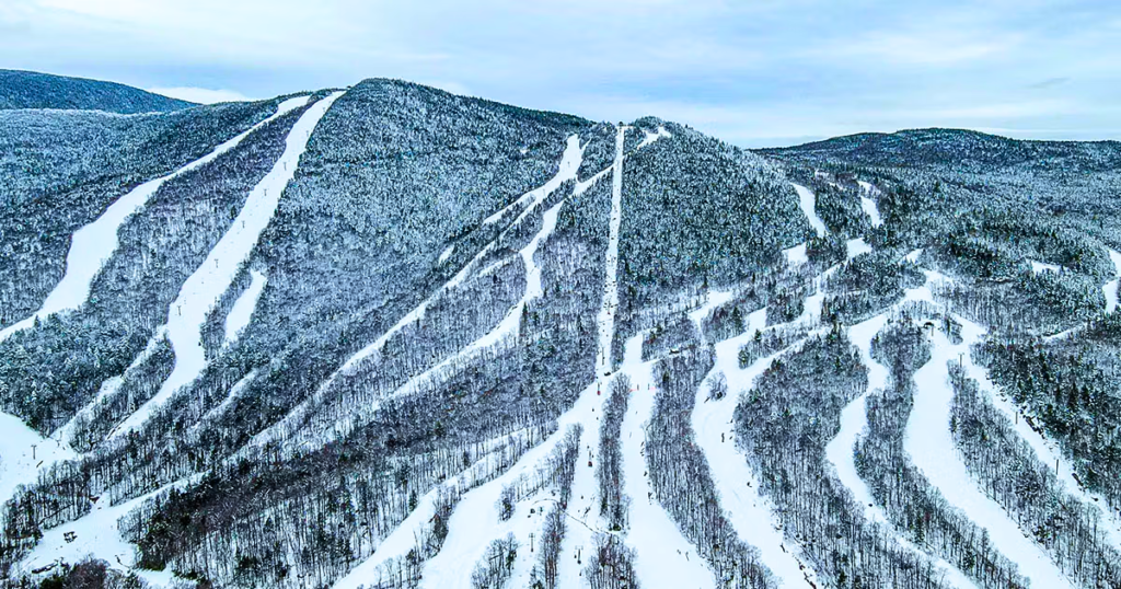
<svg viewBox="0 0 1121 589">
<path fill-rule="evenodd" d="M 194 105 L 113 82 L 0 70 L 0 110 L 74 109 L 135 114 Z"/>
</svg>

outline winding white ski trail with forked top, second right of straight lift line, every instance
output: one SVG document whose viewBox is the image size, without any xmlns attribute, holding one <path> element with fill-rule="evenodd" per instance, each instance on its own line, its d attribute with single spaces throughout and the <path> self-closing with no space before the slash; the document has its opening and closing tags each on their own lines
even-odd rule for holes
<svg viewBox="0 0 1121 589">
<path fill-rule="evenodd" d="M 692 415 L 693 432 L 708 462 L 721 507 L 740 540 L 759 550 L 760 561 L 775 573 L 784 588 L 812 587 L 816 582 L 814 572 L 798 560 L 800 549 L 795 544 L 788 545 L 782 537 L 775 518 L 775 506 L 759 493 L 759 478 L 735 444 L 732 414 L 740 395 L 751 388 L 775 357 L 786 351 L 761 358 L 747 369 L 740 368 L 740 346 L 749 341 L 756 331 L 763 330 L 766 323 L 767 310 L 756 311 L 748 315 L 748 330 L 743 335 L 716 343 L 713 374 L 724 372 L 728 394 L 720 401 L 708 399 L 707 384 L 700 387 Z M 638 498 L 634 500 L 638 501 Z"/>
</svg>

